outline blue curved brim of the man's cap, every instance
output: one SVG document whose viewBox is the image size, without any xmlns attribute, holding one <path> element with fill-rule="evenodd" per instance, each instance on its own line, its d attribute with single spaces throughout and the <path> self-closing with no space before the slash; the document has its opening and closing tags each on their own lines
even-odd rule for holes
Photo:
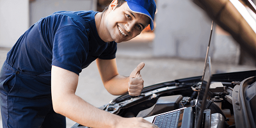
<svg viewBox="0 0 256 128">
<path fill-rule="evenodd" d="M 154 29 L 154 20 L 152 19 L 151 15 L 148 13 L 148 11 L 145 8 L 143 8 L 142 6 L 140 6 L 138 4 L 131 3 L 129 1 L 127 1 L 127 4 L 132 12 L 147 15 L 150 18 L 150 29 L 151 30 Z"/>
</svg>

